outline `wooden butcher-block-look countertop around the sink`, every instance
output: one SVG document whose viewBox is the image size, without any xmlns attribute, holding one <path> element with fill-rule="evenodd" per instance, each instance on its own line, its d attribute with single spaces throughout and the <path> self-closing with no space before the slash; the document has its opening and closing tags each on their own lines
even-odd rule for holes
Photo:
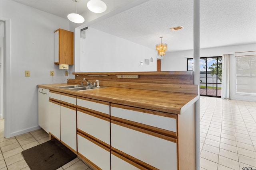
<svg viewBox="0 0 256 170">
<path fill-rule="evenodd" d="M 56 92 L 72 94 L 75 96 L 102 100 L 105 102 L 174 114 L 181 114 L 199 98 L 199 95 L 196 94 L 159 92 L 154 90 L 138 90 L 117 87 L 96 88 L 80 92 L 56 87 L 65 85 L 74 84 L 40 84 L 38 87 L 46 88 Z"/>
</svg>

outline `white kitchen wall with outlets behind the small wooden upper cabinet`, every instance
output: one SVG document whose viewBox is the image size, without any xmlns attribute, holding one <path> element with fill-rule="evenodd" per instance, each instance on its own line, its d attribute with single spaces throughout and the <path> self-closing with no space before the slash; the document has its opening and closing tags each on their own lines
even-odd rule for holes
<svg viewBox="0 0 256 170">
<path fill-rule="evenodd" d="M 67 19 L 24 6 L 12 0 L 0 1 L 0 20 L 10 19 L 10 59 L 6 59 L 6 137 L 38 126 L 38 84 L 66 82 L 64 70 L 54 64 L 54 31 L 69 30 Z M 25 77 L 30 70 L 30 77 Z M 54 76 L 50 76 L 54 70 Z M 70 74 L 74 66 L 70 66 Z"/>
</svg>

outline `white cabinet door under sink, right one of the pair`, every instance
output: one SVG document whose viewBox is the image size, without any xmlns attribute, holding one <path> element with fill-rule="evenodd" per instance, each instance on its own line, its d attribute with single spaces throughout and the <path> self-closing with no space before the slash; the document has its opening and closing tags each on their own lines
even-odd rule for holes
<svg viewBox="0 0 256 170">
<path fill-rule="evenodd" d="M 60 106 L 60 141 L 76 151 L 76 108 Z"/>
</svg>

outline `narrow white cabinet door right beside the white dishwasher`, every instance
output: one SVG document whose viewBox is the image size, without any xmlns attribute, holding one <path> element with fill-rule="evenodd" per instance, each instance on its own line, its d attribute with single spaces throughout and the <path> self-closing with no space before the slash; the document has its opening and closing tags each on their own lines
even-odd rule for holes
<svg viewBox="0 0 256 170">
<path fill-rule="evenodd" d="M 60 140 L 60 104 L 49 102 L 49 132 Z"/>
</svg>

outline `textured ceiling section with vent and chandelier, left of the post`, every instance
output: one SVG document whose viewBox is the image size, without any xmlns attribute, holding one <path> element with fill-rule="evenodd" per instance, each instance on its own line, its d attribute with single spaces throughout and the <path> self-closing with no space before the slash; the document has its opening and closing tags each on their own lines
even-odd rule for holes
<svg viewBox="0 0 256 170">
<path fill-rule="evenodd" d="M 169 29 L 180 25 L 184 29 Z M 192 49 L 193 0 L 150 0 L 90 26 L 150 48 L 162 36 L 168 51 Z"/>
</svg>

